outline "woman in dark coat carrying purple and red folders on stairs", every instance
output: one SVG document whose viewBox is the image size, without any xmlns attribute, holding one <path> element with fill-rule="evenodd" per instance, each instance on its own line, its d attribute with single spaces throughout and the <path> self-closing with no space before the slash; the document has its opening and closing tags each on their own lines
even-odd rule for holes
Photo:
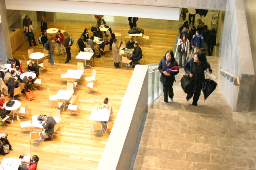
<svg viewBox="0 0 256 170">
<path fill-rule="evenodd" d="M 167 68 L 172 68 L 173 66 L 179 66 L 178 62 L 174 58 L 174 54 L 172 50 L 168 50 L 165 54 L 165 56 L 161 59 L 158 70 L 161 73 L 160 81 L 163 84 L 163 102 L 168 102 L 168 95 L 170 97 L 170 102 L 173 101 L 173 89 L 172 85 L 175 81 L 174 75 L 179 73 L 179 70 L 174 73 L 168 73 L 166 72 Z"/>
</svg>

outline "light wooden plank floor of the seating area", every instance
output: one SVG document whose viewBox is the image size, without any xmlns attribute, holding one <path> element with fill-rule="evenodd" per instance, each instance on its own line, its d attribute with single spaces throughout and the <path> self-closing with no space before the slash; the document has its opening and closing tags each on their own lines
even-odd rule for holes
<svg viewBox="0 0 256 170">
<path fill-rule="evenodd" d="M 64 29 L 64 24 L 61 22 L 51 23 L 48 22 L 48 28 L 58 28 L 59 30 Z M 74 38 L 74 41 L 80 37 L 80 34 L 83 32 L 84 28 L 88 28 L 89 24 L 76 24 L 76 23 L 66 23 L 67 24 L 67 32 L 69 35 Z M 119 32 L 121 27 L 113 27 L 113 32 Z M 123 28 L 126 32 L 129 28 Z M 145 35 L 148 35 L 150 30 L 145 30 Z M 40 29 L 34 31 L 35 39 L 40 35 Z M 153 30 L 151 36 L 151 44 L 150 47 L 146 44 L 147 42 L 141 46 L 142 51 L 146 51 L 145 53 L 145 63 L 144 61 L 140 62 L 141 64 L 151 64 L 158 63 L 160 58 L 163 57 L 167 50 L 172 49 L 175 41 L 175 36 L 177 32 L 174 31 L 166 31 L 166 30 Z M 118 41 L 120 40 L 117 39 Z M 22 60 L 23 68 L 26 69 L 26 64 L 23 59 L 23 55 L 28 60 L 27 50 L 30 49 L 28 45 L 28 41 L 26 41 L 22 46 L 20 46 L 14 53 L 13 57 Z M 34 52 L 42 52 L 43 46 L 38 45 L 33 47 Z M 58 74 L 58 68 L 61 68 L 62 74 L 66 73 L 68 69 L 76 69 L 76 63 L 82 62 L 81 60 L 75 59 L 76 56 L 76 47 L 73 45 L 71 47 L 71 60 L 70 63 L 65 64 L 66 55 L 58 55 L 57 47 L 55 49 L 54 61 L 56 63 L 55 66 L 51 66 L 51 71 L 49 68 L 43 70 L 43 74 L 45 74 L 46 85 L 47 88 L 51 90 L 52 95 L 55 95 L 59 89 L 66 89 L 66 81 L 63 81 L 60 84 L 60 75 Z M 41 63 L 42 60 L 39 62 Z M 87 64 L 91 65 L 91 62 Z M 82 88 L 78 88 L 77 94 L 80 96 L 80 102 L 82 109 L 80 109 L 80 113 L 76 117 L 75 114 L 69 116 L 68 119 L 68 111 L 64 111 L 61 113 L 63 125 L 60 123 L 60 131 L 54 134 L 54 143 L 53 141 L 44 142 L 44 147 L 42 142 L 33 141 L 31 146 L 31 155 L 38 155 L 40 158 L 38 168 L 42 169 L 61 169 L 61 170 L 70 170 L 70 169 L 96 169 L 101 158 L 101 154 L 104 150 L 105 144 L 108 140 L 109 132 L 106 134 L 106 138 L 103 139 L 101 133 L 93 134 L 92 140 L 91 137 L 91 124 L 95 123 L 94 121 L 90 121 L 90 113 L 93 108 L 95 108 L 96 104 L 102 104 L 105 97 L 110 98 L 112 101 L 113 109 L 114 109 L 114 120 L 118 113 L 118 109 L 122 103 L 123 96 L 125 94 L 126 88 L 128 86 L 132 69 L 128 69 L 128 67 L 124 66 L 124 69 L 116 69 L 114 68 L 114 64 L 112 62 L 111 52 L 109 52 L 106 56 L 104 55 L 104 59 L 95 58 L 94 60 L 94 69 L 97 71 L 96 78 L 98 78 L 98 87 L 93 90 L 93 97 L 91 97 L 91 91 L 86 89 L 84 86 L 84 77 L 91 75 L 92 69 L 90 67 L 86 67 L 85 75 L 78 81 L 79 85 Z M 41 77 L 41 69 L 40 76 Z M 33 91 L 33 95 L 35 100 L 30 101 L 28 107 L 38 106 L 38 114 L 40 115 L 48 115 L 50 116 L 50 107 L 49 107 L 49 99 L 46 94 L 45 85 L 42 85 L 42 92 L 39 90 Z M 86 89 L 86 90 L 85 90 Z M 24 107 L 27 103 L 27 100 L 24 100 L 22 97 L 15 97 L 15 99 L 19 100 Z M 5 97 L 7 101 L 8 98 Z M 29 118 L 27 117 L 27 120 Z M 112 120 L 112 117 L 110 117 Z M 22 119 L 22 121 L 25 121 Z M 29 128 L 24 128 L 22 137 L 21 131 L 19 128 L 19 124 L 17 120 L 14 120 L 14 123 L 6 124 L 5 131 L 3 130 L 2 125 L 1 132 L 8 133 L 8 139 L 11 142 L 13 147 L 13 151 L 11 151 L 8 155 L 2 156 L 0 155 L 0 161 L 4 157 L 12 157 L 18 158 L 19 155 L 22 155 L 22 147 L 30 146 L 30 138 Z M 40 131 L 40 129 L 34 128 L 33 131 Z M 114 148 L 113 148 L 114 149 Z"/>
</svg>

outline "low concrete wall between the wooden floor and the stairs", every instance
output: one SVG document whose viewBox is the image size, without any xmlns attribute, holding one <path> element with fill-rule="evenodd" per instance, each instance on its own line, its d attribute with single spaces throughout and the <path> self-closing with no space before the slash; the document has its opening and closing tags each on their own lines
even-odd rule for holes
<svg viewBox="0 0 256 170">
<path fill-rule="evenodd" d="M 98 170 L 129 169 L 141 122 L 147 109 L 148 66 L 136 65 L 115 119 Z"/>
</svg>

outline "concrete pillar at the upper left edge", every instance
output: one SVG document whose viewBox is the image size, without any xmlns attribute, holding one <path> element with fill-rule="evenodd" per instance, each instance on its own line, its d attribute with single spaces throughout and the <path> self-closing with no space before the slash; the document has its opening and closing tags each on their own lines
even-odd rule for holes
<svg viewBox="0 0 256 170">
<path fill-rule="evenodd" d="M 12 59 L 13 56 L 4 0 L 0 0 L 0 15 L 2 21 L 0 23 L 0 58 L 6 63 L 5 58 Z"/>
</svg>

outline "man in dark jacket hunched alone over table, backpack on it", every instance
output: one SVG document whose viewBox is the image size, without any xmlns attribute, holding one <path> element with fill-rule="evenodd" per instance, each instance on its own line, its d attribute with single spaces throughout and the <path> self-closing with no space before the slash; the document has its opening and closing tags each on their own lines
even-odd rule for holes
<svg viewBox="0 0 256 170">
<path fill-rule="evenodd" d="M 42 132 L 42 135 L 44 137 L 44 141 L 49 141 L 51 140 L 51 138 L 48 135 L 53 134 L 54 126 L 57 123 L 52 116 L 50 117 L 44 116 L 43 120 L 44 120 L 44 123 L 42 124 L 42 126 L 45 130 Z"/>
</svg>

